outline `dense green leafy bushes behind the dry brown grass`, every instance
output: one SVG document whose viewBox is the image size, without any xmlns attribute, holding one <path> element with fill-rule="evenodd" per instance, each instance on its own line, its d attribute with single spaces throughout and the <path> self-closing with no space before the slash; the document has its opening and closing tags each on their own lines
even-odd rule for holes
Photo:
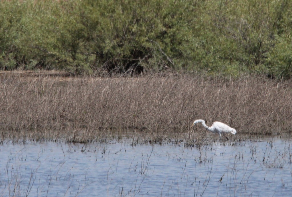
<svg viewBox="0 0 292 197">
<path fill-rule="evenodd" d="M 1 1 L 0 69 L 292 74 L 292 1 Z"/>
</svg>

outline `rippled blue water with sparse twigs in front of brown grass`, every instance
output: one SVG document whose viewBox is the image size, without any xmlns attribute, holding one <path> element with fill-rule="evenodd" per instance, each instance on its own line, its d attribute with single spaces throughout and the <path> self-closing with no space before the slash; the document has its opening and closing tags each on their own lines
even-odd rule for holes
<svg viewBox="0 0 292 197">
<path fill-rule="evenodd" d="M 1 196 L 290 196 L 291 140 L 0 146 Z"/>
</svg>

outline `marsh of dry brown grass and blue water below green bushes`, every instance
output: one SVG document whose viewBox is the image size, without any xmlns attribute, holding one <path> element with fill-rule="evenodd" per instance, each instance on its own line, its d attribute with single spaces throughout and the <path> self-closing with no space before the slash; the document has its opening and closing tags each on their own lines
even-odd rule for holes
<svg viewBox="0 0 292 197">
<path fill-rule="evenodd" d="M 1 196 L 288 196 L 291 84 L 1 73 Z"/>
</svg>

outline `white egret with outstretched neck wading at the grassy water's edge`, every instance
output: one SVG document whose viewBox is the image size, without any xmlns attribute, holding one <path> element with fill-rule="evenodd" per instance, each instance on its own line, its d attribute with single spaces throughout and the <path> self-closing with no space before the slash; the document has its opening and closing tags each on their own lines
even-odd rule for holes
<svg viewBox="0 0 292 197">
<path fill-rule="evenodd" d="M 205 124 L 205 121 L 202 119 L 199 120 L 195 120 L 194 123 L 192 124 L 191 128 L 197 124 L 197 123 L 202 123 L 202 125 L 208 130 L 211 131 L 212 133 L 218 133 L 221 139 L 221 133 L 232 133 L 232 134 L 236 134 L 236 130 L 234 128 L 231 128 L 230 126 L 222 123 L 222 122 L 213 122 L 211 127 L 208 127 Z M 225 136 L 225 135 L 224 135 Z M 226 136 L 225 136 L 226 137 Z M 226 139 L 228 140 L 228 138 L 226 137 Z"/>
</svg>

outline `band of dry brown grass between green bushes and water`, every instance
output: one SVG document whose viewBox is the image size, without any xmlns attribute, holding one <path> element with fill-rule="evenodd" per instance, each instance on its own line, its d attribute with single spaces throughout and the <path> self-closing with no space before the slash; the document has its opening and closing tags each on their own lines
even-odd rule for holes
<svg viewBox="0 0 292 197">
<path fill-rule="evenodd" d="M 201 139 L 206 131 L 200 125 L 189 129 L 199 118 L 207 125 L 227 123 L 237 136 L 292 131 L 291 81 L 259 76 L 226 80 L 197 75 L 1 74 L 0 89 L 2 140 L 83 142 L 102 140 L 121 129 L 142 133 L 152 142 L 170 134 Z"/>
</svg>

